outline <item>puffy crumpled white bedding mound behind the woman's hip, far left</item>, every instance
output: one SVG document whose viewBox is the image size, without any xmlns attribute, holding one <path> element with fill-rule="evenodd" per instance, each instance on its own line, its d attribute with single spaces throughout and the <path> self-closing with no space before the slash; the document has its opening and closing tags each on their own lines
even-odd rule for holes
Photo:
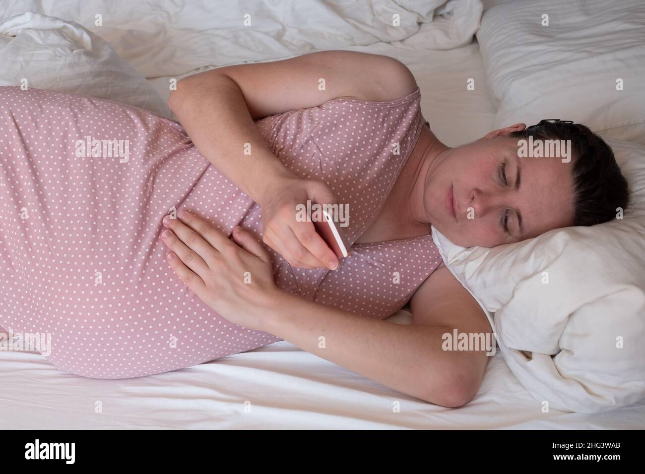
<svg viewBox="0 0 645 474">
<path fill-rule="evenodd" d="M 36 13 L 0 22 L 0 86 L 110 99 L 170 117 L 159 94 L 110 44 L 73 21 Z"/>
</svg>

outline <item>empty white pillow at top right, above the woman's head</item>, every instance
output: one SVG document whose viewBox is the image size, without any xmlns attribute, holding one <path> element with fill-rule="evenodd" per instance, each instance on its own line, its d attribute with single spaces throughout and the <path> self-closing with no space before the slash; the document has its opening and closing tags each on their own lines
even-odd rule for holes
<svg viewBox="0 0 645 474">
<path fill-rule="evenodd" d="M 486 10 L 477 39 L 495 128 L 567 119 L 645 144 L 644 1 L 516 0 Z"/>
</svg>

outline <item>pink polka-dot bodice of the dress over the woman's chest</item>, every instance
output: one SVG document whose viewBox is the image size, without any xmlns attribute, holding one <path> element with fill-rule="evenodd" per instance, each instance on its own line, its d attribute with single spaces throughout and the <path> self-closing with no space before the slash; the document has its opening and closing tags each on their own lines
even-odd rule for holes
<svg viewBox="0 0 645 474">
<path fill-rule="evenodd" d="M 266 139 L 272 152 L 290 171 L 321 179 L 339 203 L 349 204 L 350 225 L 344 232 L 353 243 L 376 217 L 425 119 L 417 88 L 393 101 L 334 99 L 261 122 L 268 124 Z M 401 309 L 441 265 L 441 255 L 426 235 L 353 245 L 335 272 L 292 268 L 285 261 L 280 276 L 303 297 L 383 319 Z"/>
</svg>

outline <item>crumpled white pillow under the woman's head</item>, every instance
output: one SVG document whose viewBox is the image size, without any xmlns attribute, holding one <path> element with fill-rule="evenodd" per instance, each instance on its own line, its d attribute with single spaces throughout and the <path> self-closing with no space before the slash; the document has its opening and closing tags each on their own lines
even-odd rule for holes
<svg viewBox="0 0 645 474">
<path fill-rule="evenodd" d="M 645 146 L 605 139 L 633 192 L 624 219 L 495 248 L 432 228 L 517 378 L 551 408 L 583 413 L 645 396 Z"/>
</svg>

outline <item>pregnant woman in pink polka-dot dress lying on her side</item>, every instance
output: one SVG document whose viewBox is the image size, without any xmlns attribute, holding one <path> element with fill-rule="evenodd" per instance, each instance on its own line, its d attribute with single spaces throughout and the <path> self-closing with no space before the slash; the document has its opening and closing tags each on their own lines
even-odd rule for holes
<svg viewBox="0 0 645 474">
<path fill-rule="evenodd" d="M 461 406 L 487 348 L 444 350 L 444 335 L 491 328 L 442 265 L 430 224 L 491 247 L 608 221 L 628 199 L 611 149 L 579 124 L 515 124 L 445 146 L 410 71 L 379 55 L 186 77 L 169 101 L 183 128 L 110 101 L 0 95 L 0 326 L 52 333 L 48 359 L 87 377 L 150 375 L 285 339 Z M 519 157 L 530 135 L 572 148 Z M 299 219 L 308 201 L 348 209 L 348 257 Z M 407 302 L 412 325 L 382 321 Z"/>
</svg>

